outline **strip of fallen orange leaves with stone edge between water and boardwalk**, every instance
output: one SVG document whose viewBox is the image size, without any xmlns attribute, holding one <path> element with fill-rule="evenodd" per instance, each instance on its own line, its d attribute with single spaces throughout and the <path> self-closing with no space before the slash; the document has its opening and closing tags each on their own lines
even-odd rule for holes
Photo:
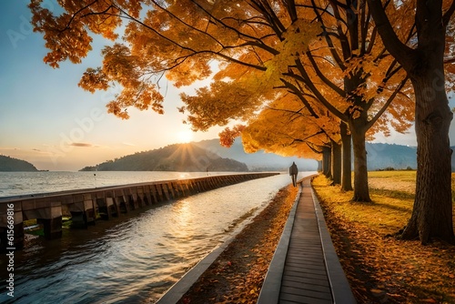
<svg viewBox="0 0 455 304">
<path fill-rule="evenodd" d="M 256 303 L 297 194 L 298 187 L 280 188 L 246 227 L 187 273 L 191 284 L 177 282 L 157 303 Z"/>
</svg>

